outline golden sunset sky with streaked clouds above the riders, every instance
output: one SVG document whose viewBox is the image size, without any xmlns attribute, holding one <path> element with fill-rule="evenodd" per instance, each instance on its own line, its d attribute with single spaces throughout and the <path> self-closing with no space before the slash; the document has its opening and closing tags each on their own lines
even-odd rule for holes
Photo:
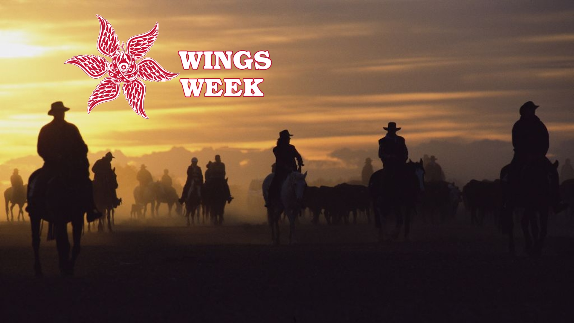
<svg viewBox="0 0 574 323">
<path fill-rule="evenodd" d="M 87 114 L 99 79 L 64 61 L 102 56 L 96 14 L 120 41 L 159 23 L 146 57 L 181 74 L 145 82 L 148 120 L 123 94 Z M 184 71 L 181 50 L 263 50 L 273 65 Z M 71 107 L 67 120 L 91 152 L 131 156 L 173 146 L 269 149 L 289 129 L 305 159 L 328 161 L 337 149 L 377 149 L 389 121 L 402 127 L 409 147 L 510 141 L 518 108 L 529 100 L 541 105 L 550 153 L 574 140 L 571 0 L 3 0 L 0 70 L 0 163 L 36 155 L 54 101 Z M 179 83 L 259 77 L 262 98 L 185 98 Z"/>
</svg>

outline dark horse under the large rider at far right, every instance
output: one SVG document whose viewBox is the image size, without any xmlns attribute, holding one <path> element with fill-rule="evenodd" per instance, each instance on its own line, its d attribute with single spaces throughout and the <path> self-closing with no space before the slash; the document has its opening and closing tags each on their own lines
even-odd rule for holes
<svg viewBox="0 0 574 323">
<path fill-rule="evenodd" d="M 558 167 L 558 161 L 553 166 Z M 509 235 L 510 253 L 514 255 L 513 214 L 517 208 L 523 208 L 521 224 L 525 251 L 529 255 L 540 255 L 548 229 L 548 209 L 552 204 L 548 161 L 532 160 L 521 171 L 515 172 L 515 176 L 511 174 L 510 164 L 502 168 L 501 184 L 505 205 L 501 226 L 503 232 Z M 540 215 L 540 223 L 537 214 Z"/>
</svg>

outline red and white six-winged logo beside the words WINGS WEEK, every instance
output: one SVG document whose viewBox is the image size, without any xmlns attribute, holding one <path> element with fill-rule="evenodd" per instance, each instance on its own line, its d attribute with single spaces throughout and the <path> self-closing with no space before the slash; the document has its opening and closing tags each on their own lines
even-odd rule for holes
<svg viewBox="0 0 574 323">
<path fill-rule="evenodd" d="M 144 110 L 145 84 L 141 80 L 165 82 L 179 75 L 179 73 L 166 71 L 150 57 L 142 59 L 156 41 L 159 25 L 156 22 L 156 25 L 149 32 L 130 37 L 126 46 L 124 47 L 122 42 L 120 47 L 118 36 L 116 36 L 110 22 L 102 16 L 96 15 L 96 17 L 100 21 L 98 51 L 102 55 L 110 57 L 111 62 L 105 57 L 94 55 L 73 56 L 64 62 L 64 64 L 74 64 L 82 68 L 82 71 L 94 79 L 99 79 L 106 73 L 109 75 L 96 86 L 90 95 L 88 114 L 96 105 L 118 98 L 120 83 L 123 82 L 123 95 L 125 95 L 127 103 L 135 113 L 147 119 L 148 116 Z"/>
</svg>

